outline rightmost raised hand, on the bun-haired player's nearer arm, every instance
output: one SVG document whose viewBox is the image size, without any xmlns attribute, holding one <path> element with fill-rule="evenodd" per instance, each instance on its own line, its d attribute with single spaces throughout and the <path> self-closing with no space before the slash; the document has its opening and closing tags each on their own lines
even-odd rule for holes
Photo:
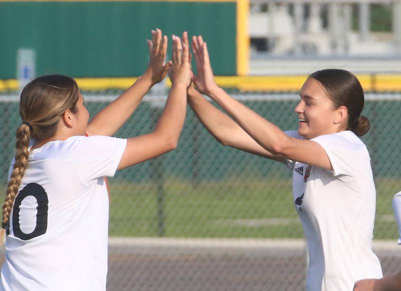
<svg viewBox="0 0 401 291">
<path fill-rule="evenodd" d="M 192 82 L 200 92 L 211 95 L 219 87 L 213 75 L 207 44 L 201 35 L 192 36 L 192 51 L 197 69 L 197 75 L 192 76 Z"/>
</svg>

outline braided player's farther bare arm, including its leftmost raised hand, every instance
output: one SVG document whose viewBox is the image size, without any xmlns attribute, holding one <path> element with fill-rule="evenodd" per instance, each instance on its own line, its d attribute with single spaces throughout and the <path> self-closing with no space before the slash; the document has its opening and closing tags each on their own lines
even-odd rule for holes
<svg viewBox="0 0 401 291">
<path fill-rule="evenodd" d="M 121 96 L 103 108 L 89 122 L 88 135 L 113 135 L 135 111 L 146 92 L 167 74 L 170 63 L 165 63 L 167 36 L 161 30 L 152 30 L 152 41 L 148 41 L 149 64 L 143 75 L 138 77 Z"/>
</svg>

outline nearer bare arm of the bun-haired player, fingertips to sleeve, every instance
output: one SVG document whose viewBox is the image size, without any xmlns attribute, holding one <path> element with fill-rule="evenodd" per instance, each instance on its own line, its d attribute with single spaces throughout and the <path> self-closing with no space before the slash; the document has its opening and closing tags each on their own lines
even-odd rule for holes
<svg viewBox="0 0 401 291">
<path fill-rule="evenodd" d="M 333 169 L 320 144 L 286 135 L 275 124 L 234 99 L 216 84 L 207 44 L 202 36 L 192 38 L 192 50 L 198 71 L 198 75 L 193 77 L 195 86 L 222 106 L 252 139 L 275 156 Z"/>
</svg>

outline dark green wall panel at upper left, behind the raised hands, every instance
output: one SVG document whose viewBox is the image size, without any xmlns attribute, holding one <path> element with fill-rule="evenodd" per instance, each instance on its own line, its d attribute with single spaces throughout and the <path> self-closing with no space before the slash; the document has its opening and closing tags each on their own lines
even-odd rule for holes
<svg viewBox="0 0 401 291">
<path fill-rule="evenodd" d="M 150 30 L 202 34 L 217 75 L 236 74 L 236 2 L 0 2 L 0 79 L 16 78 L 17 49 L 37 54 L 37 75 L 140 75 Z M 169 53 L 171 46 L 169 45 Z"/>
</svg>

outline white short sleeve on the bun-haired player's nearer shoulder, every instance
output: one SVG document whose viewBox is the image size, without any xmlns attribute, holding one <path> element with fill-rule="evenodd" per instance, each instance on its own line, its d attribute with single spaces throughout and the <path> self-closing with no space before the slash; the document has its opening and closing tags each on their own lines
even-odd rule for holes
<svg viewBox="0 0 401 291">
<path fill-rule="evenodd" d="M 353 176 L 358 171 L 358 167 L 370 163 L 369 154 L 362 141 L 355 135 L 344 136 L 335 134 L 320 135 L 311 140 L 319 143 L 326 151 L 330 159 L 334 176 L 346 175 Z"/>
</svg>

